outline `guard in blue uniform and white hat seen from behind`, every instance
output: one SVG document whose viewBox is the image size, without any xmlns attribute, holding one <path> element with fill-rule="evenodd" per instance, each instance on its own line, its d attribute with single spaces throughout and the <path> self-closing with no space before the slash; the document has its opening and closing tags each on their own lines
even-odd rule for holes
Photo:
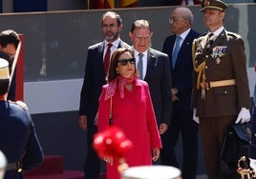
<svg viewBox="0 0 256 179">
<path fill-rule="evenodd" d="M 42 163 L 43 151 L 26 105 L 7 100 L 10 83 L 9 63 L 0 58 L 0 149 L 8 161 L 5 179 L 23 179 L 23 169 Z"/>
</svg>

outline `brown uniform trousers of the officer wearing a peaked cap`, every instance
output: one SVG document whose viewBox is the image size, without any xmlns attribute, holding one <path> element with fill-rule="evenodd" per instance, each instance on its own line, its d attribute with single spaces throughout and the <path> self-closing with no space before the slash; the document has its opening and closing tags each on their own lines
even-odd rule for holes
<svg viewBox="0 0 256 179">
<path fill-rule="evenodd" d="M 208 179 L 235 179 L 236 169 L 232 175 L 222 173 L 220 150 L 224 138 L 224 130 L 234 123 L 236 116 L 200 118 L 200 129 L 203 141 L 205 169 Z"/>
</svg>

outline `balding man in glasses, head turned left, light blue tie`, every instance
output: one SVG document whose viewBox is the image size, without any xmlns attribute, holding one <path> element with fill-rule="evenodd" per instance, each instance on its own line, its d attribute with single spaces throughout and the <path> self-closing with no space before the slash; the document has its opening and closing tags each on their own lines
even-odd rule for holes
<svg viewBox="0 0 256 179">
<path fill-rule="evenodd" d="M 182 178 L 195 179 L 198 161 L 198 124 L 193 121 L 192 94 L 192 43 L 199 33 L 191 30 L 193 14 L 185 7 L 179 7 L 170 16 L 170 28 L 174 33 L 165 38 L 162 51 L 169 55 L 172 72 L 173 110 L 170 127 L 164 134 L 169 141 L 162 149 L 162 165 L 178 166 L 175 153 L 181 132 L 183 162 Z M 181 38 L 178 44 L 176 39 Z M 176 47 L 179 50 L 175 55 Z"/>
</svg>

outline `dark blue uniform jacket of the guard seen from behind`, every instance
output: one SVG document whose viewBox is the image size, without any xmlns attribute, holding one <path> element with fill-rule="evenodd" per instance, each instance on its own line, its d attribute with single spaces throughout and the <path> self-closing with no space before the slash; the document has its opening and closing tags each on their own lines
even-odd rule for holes
<svg viewBox="0 0 256 179">
<path fill-rule="evenodd" d="M 33 169 L 43 162 L 43 151 L 29 111 L 3 100 L 0 101 L 0 149 L 9 163 L 22 160 L 22 169 Z M 5 178 L 23 176 L 13 169 L 6 172 Z"/>
</svg>

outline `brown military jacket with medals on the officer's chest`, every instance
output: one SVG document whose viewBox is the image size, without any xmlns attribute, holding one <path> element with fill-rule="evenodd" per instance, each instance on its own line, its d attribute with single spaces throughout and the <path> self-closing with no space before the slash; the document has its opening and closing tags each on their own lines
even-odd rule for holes
<svg viewBox="0 0 256 179">
<path fill-rule="evenodd" d="M 209 50 L 205 48 L 207 35 L 195 40 L 195 68 L 205 61 L 206 82 L 235 79 L 236 85 L 210 88 L 202 99 L 202 89 L 194 81 L 193 105 L 199 117 L 237 115 L 241 108 L 249 109 L 249 89 L 246 73 L 244 40 L 239 34 L 223 30 Z"/>
</svg>

